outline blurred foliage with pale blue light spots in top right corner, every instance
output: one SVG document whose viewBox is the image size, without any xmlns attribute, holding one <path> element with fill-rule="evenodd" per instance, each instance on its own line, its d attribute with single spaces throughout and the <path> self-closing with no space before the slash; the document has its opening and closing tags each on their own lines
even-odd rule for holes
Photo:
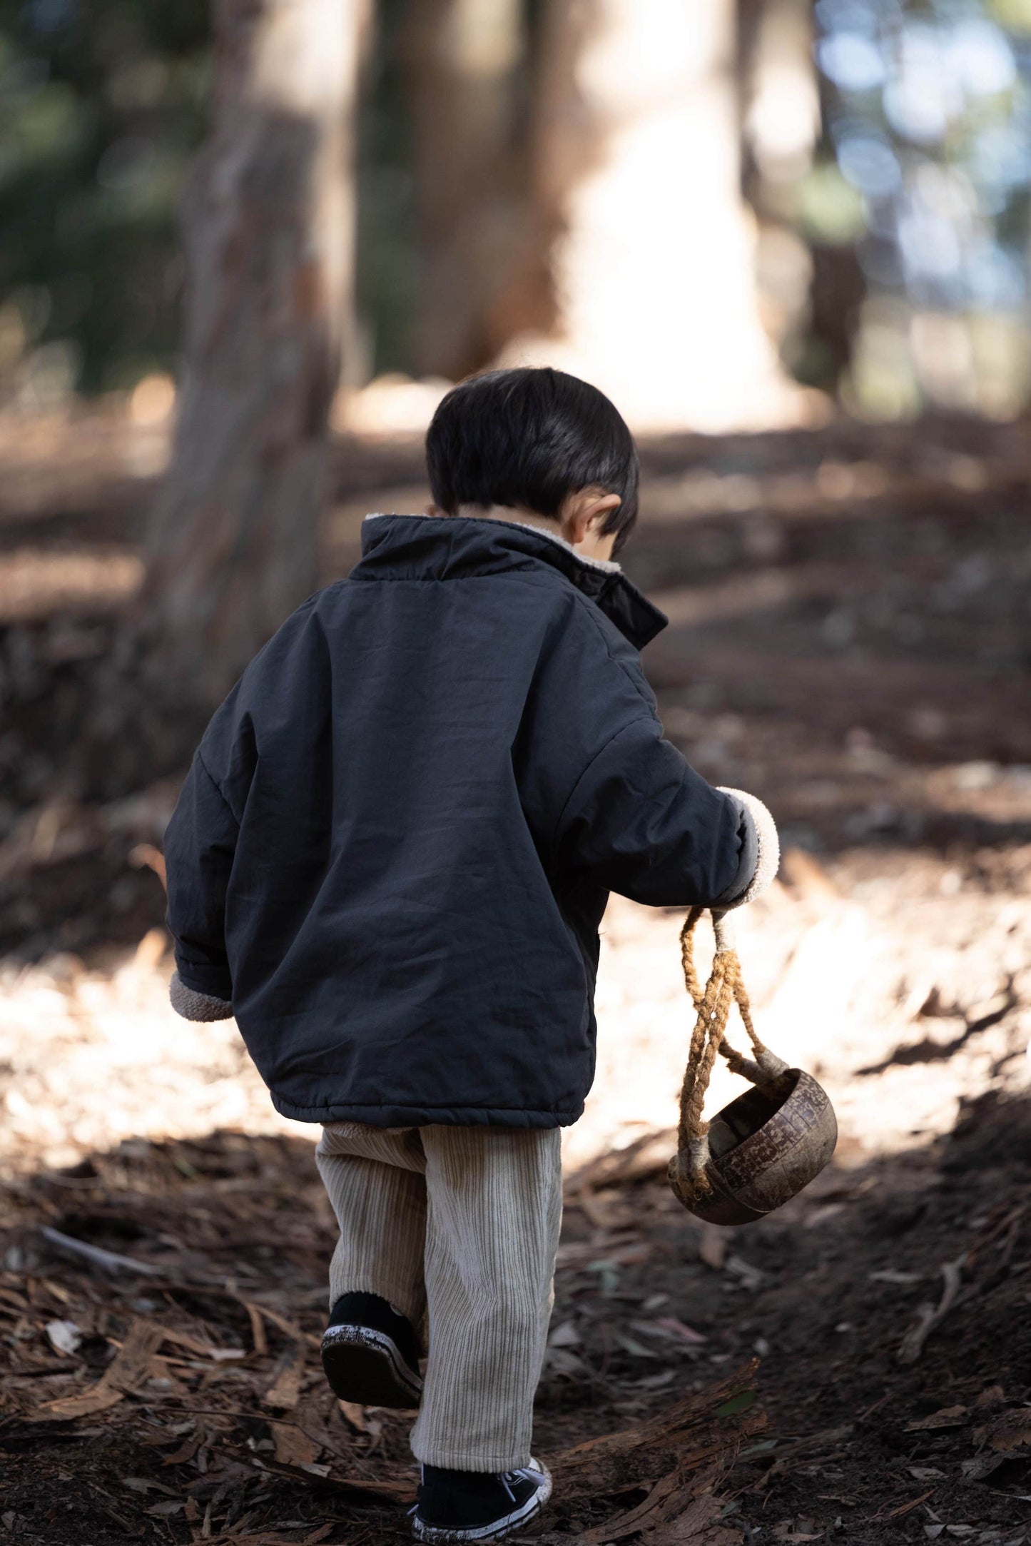
<svg viewBox="0 0 1031 1546">
<path fill-rule="evenodd" d="M 825 291 L 836 275 L 832 334 L 835 309 L 855 318 L 825 383 L 876 417 L 1020 411 L 1031 0 L 816 0 L 815 20 L 822 142 L 796 229 Z"/>
</svg>

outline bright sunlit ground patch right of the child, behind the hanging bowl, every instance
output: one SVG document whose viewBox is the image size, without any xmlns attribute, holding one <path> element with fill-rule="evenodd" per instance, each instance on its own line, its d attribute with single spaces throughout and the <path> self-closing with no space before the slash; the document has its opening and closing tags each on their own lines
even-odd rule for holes
<svg viewBox="0 0 1031 1546">
<path fill-rule="evenodd" d="M 917 867 L 929 883 L 923 898 L 900 894 L 886 866 L 881 880 L 856 886 L 861 901 L 830 887 L 799 897 L 781 886 L 740 920 L 756 1028 L 827 1087 L 841 1127 L 839 1158 L 850 1164 L 949 1132 L 961 1098 L 1023 1087 L 1028 1076 L 1031 901 L 935 895 L 946 867 L 926 856 Z M 847 856 L 830 873 L 847 886 Z M 573 1163 L 675 1125 L 694 1022 L 680 976 L 680 921 L 621 898 L 611 904 L 598 1073 L 567 1138 Z M 734 1019 L 730 1039 L 745 1044 Z M 717 1067 L 706 1110 L 740 1088 Z"/>
</svg>

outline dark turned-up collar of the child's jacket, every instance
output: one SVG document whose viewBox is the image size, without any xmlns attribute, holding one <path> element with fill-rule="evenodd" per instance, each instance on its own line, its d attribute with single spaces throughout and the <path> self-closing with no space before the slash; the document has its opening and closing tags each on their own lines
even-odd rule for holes
<svg viewBox="0 0 1031 1546">
<path fill-rule="evenodd" d="M 454 515 L 366 515 L 356 580 L 445 580 L 549 564 L 598 606 L 635 649 L 668 618 L 618 564 L 584 558 L 561 536 L 516 521 Z"/>
</svg>

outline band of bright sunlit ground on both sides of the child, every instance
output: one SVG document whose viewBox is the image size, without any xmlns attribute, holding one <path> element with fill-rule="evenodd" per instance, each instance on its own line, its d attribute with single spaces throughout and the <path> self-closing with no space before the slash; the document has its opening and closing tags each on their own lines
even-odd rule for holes
<svg viewBox="0 0 1031 1546">
<path fill-rule="evenodd" d="M 926 1142 L 952 1127 L 963 1096 L 1020 1087 L 1031 1033 L 1031 901 L 941 886 L 948 866 L 926 856 L 909 889 L 890 861 L 875 880 L 856 878 L 847 855 L 825 872 L 808 864 L 804 886 L 778 886 L 742 917 L 739 952 L 759 1034 L 816 1074 L 835 1102 L 842 1161 Z M 677 912 L 612 898 L 597 1079 L 566 1135 L 570 1167 L 675 1125 L 694 1019 L 680 921 Z M 315 1136 L 311 1124 L 272 1110 L 232 1020 L 176 1019 L 170 969 L 158 929 L 134 952 L 110 952 L 108 965 L 59 955 L 3 968 L 5 1169 L 54 1169 L 125 1138 L 216 1127 Z M 730 1034 L 743 1045 L 734 1020 Z M 708 1110 L 739 1090 L 717 1068 Z"/>
</svg>

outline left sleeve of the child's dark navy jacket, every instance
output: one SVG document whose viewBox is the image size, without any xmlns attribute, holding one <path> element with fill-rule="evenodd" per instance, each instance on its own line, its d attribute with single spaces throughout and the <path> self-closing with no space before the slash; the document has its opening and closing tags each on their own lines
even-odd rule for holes
<svg viewBox="0 0 1031 1546">
<path fill-rule="evenodd" d="M 238 830 L 198 751 L 165 829 L 167 923 L 175 938 L 181 986 L 227 1003 L 233 985 L 226 955 L 226 890 Z M 178 1003 L 175 1006 L 184 1013 Z"/>
</svg>

